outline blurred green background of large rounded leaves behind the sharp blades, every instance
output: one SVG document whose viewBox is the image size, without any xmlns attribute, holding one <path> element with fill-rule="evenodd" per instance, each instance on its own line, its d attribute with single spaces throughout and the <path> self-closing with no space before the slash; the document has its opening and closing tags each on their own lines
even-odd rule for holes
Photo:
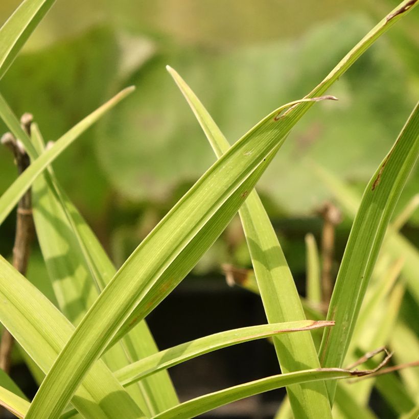
<svg viewBox="0 0 419 419">
<path fill-rule="evenodd" d="M 19 3 L 2 0 L 0 22 Z M 274 108 L 305 96 L 397 4 L 58 0 L 1 80 L 0 91 L 17 114 L 31 112 L 44 138 L 54 141 L 121 88 L 137 87 L 54 163 L 64 189 L 120 265 L 215 161 L 166 64 L 189 83 L 234 143 Z M 417 11 L 404 17 L 333 85 L 328 94 L 339 101 L 310 110 L 258 185 L 301 291 L 304 236 L 311 231 L 319 240 L 317 210 L 332 199 L 315 167 L 363 191 L 419 96 L 418 21 Z M 0 133 L 5 131 L 0 123 Z M 16 177 L 6 149 L 0 149 L 0 165 L 3 193 Z M 418 192 L 418 184 L 416 168 L 396 213 Z M 5 256 L 11 254 L 14 224 L 11 215 L 0 227 Z M 338 227 L 337 261 L 350 226 L 344 219 Z M 416 245 L 418 229 L 416 211 L 403 229 Z M 224 262 L 250 263 L 238 220 L 187 280 L 189 292 L 200 288 L 212 298 L 215 283 L 226 288 L 220 275 Z M 35 283 L 46 277 L 36 246 L 28 275 Z M 188 295 L 179 294 L 178 300 L 190 305 Z M 193 300 L 196 311 L 213 304 L 196 294 Z M 248 311 L 255 301 L 240 302 L 236 311 Z M 230 304 L 228 297 L 225 305 Z M 183 315 L 179 322 L 188 321 Z M 215 324 L 226 329 L 225 313 L 220 316 L 219 321 L 208 320 L 208 328 L 214 328 L 208 333 L 219 330 Z M 164 338 L 155 333 L 158 341 Z M 196 337 L 195 332 L 187 334 Z"/>
</svg>

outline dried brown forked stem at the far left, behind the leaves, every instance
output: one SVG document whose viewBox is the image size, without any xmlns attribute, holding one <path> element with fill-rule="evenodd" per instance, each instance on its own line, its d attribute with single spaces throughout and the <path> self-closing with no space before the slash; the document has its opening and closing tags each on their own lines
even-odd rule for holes
<svg viewBox="0 0 419 419">
<path fill-rule="evenodd" d="M 32 115 L 26 113 L 21 118 L 22 128 L 30 134 Z M 19 140 L 15 139 L 11 133 L 6 133 L 2 137 L 2 144 L 12 150 L 18 173 L 22 173 L 30 164 L 30 159 Z M 20 199 L 17 205 L 16 214 L 16 233 L 13 246 L 13 266 L 25 275 L 28 267 L 31 242 L 34 235 L 32 219 L 32 197 L 29 189 Z M 5 329 L 0 342 L 0 368 L 6 373 L 10 371 L 10 357 L 13 348 L 13 336 Z"/>
</svg>

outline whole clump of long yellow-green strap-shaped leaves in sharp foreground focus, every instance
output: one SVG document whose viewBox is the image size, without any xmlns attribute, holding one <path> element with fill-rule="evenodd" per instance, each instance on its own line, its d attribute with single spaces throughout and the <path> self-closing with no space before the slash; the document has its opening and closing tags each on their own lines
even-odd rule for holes
<svg viewBox="0 0 419 419">
<path fill-rule="evenodd" d="M 0 30 L 0 76 L 53 3 L 26 0 Z M 363 393 L 358 394 L 338 386 L 337 379 L 376 372 L 374 367 L 354 370 L 342 366 L 348 349 L 354 342 L 359 343 L 354 338 L 363 333 L 360 325 L 368 324 L 365 313 L 375 310 L 377 300 L 391 301 L 392 320 L 400 306 L 403 288 L 392 288 L 399 265 L 386 278 L 387 292 L 381 292 L 377 283 L 369 292 L 368 284 L 395 203 L 417 158 L 418 106 L 367 184 L 326 320 L 306 320 L 307 304 L 296 291 L 280 243 L 253 188 L 302 115 L 316 102 L 336 99 L 324 96 L 327 89 L 415 5 L 416 1 L 402 2 L 305 98 L 275 109 L 231 147 L 193 91 L 168 68 L 218 160 L 118 271 L 49 165 L 132 88 L 123 90 L 46 148 L 38 126 L 32 123 L 30 129 L 22 128 L 6 100 L 0 97 L 0 116 L 31 159 L 25 172 L 0 197 L 0 222 L 33 184 L 36 232 L 59 307 L 0 258 L 0 321 L 45 375 L 31 403 L 22 398 L 16 386 L 10 385 L 8 389 L 6 385 L 0 388 L 1 403 L 17 416 L 28 418 L 71 417 L 77 412 L 92 418 L 186 418 L 285 386 L 295 417 L 332 417 L 335 400 L 342 412 L 358 409 L 364 416 L 370 415 L 366 400 L 371 386 L 365 385 Z M 238 211 L 257 281 L 253 288 L 261 294 L 268 324 L 221 332 L 158 352 L 144 318 L 190 272 Z M 410 282 L 409 287 L 417 290 Z M 366 293 L 369 299 L 361 312 Z M 321 317 L 316 310 L 312 313 Z M 389 321 L 386 316 L 383 319 Z M 319 328 L 323 333 L 317 351 L 310 331 Z M 404 336 L 409 333 L 400 332 Z M 267 336 L 273 338 L 283 374 L 179 403 L 167 368 L 228 345 Z M 384 335 L 370 344 L 380 339 Z M 389 377 L 393 382 L 397 380 Z M 2 383 L 7 380 L 4 378 Z M 384 394 L 389 392 L 388 383 L 380 385 Z M 413 417 L 417 407 L 411 405 L 407 389 L 402 387 L 400 391 L 404 397 L 401 413 L 411 409 L 409 414 Z M 348 409 L 348 402 L 353 407 Z"/>
</svg>

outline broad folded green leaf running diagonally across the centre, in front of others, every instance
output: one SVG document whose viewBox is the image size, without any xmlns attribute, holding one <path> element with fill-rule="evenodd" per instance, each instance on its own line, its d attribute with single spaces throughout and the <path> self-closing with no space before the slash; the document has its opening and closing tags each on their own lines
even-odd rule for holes
<svg viewBox="0 0 419 419">
<path fill-rule="evenodd" d="M 45 407 L 39 405 L 40 410 L 38 413 L 41 416 L 45 414 L 45 409 L 53 410 L 48 412 L 48 414 L 51 414 L 51 417 L 59 415 L 62 407 L 68 401 L 65 399 L 71 396 L 75 389 L 74 387 L 83 378 L 87 366 L 97 359 L 135 306 L 141 302 L 139 307 L 143 316 L 139 318 L 143 318 L 167 292 L 177 285 L 184 274 L 192 269 L 201 254 L 221 234 L 222 229 L 225 228 L 238 211 L 248 193 L 248 189 L 244 189 L 243 185 L 240 185 L 240 181 L 243 182 L 251 173 L 251 170 L 246 165 L 251 165 L 253 170 L 257 168 L 259 161 L 269 152 L 269 149 L 266 149 L 269 147 L 266 143 L 274 143 L 275 139 L 283 137 L 280 133 L 275 138 L 275 131 L 279 130 L 281 132 L 280 125 L 282 125 L 277 124 L 273 120 L 275 115 L 276 113 L 272 112 L 263 121 L 265 125 L 257 126 L 257 129 L 252 131 L 249 137 L 245 137 L 244 141 L 238 143 L 236 150 L 233 150 L 235 152 L 231 153 L 232 156 L 226 162 L 222 162 L 222 165 L 216 164 L 209 169 L 196 183 L 195 187 L 179 201 L 165 219 L 142 242 L 113 277 L 80 323 L 78 327 L 80 335 L 74 335 L 74 340 L 71 339 L 68 342 L 67 350 L 62 354 L 65 355 L 62 361 L 60 360 L 61 357 L 57 360 L 58 370 L 64 364 L 68 366 L 69 359 L 72 360 L 70 361 L 72 366 L 68 369 L 67 374 L 72 375 L 73 380 L 65 380 L 66 383 L 61 383 L 66 387 L 64 391 L 65 397 L 57 397 L 57 404 L 55 405 L 51 403 L 52 393 L 48 390 L 50 402 L 46 403 L 48 406 Z M 270 135 L 263 135 L 266 133 Z M 263 138 L 265 138 L 265 141 L 263 141 Z M 250 139 L 253 141 L 250 142 Z M 247 156 L 250 161 L 247 162 L 247 159 L 243 159 L 242 156 L 246 156 L 246 153 L 249 151 L 250 155 L 247 154 Z M 234 169 L 231 170 L 231 168 Z M 251 177 L 253 182 L 250 185 L 251 187 L 254 186 L 254 183 L 262 173 L 259 171 L 257 174 L 257 178 Z M 235 179 L 235 177 L 239 179 Z M 246 187 L 246 184 L 244 186 Z M 236 192 L 232 196 L 233 199 L 227 201 L 232 192 Z M 212 218 L 219 209 L 219 217 Z M 202 237 L 203 240 L 199 243 L 200 247 L 191 246 L 191 251 L 182 252 L 182 250 L 185 250 L 185 247 L 193 243 L 192 241 L 199 230 L 211 218 L 213 227 L 216 228 L 217 236 L 214 237 L 212 235 L 211 237 L 209 235 L 209 239 Z M 214 231 L 214 229 L 208 228 L 207 231 Z M 176 259 L 181 252 L 183 253 L 183 260 Z M 166 276 L 165 271 L 167 268 L 173 269 L 176 275 L 174 277 Z M 179 275 L 179 272 L 181 272 L 181 275 Z M 149 292 L 149 290 L 151 291 Z M 79 341 L 80 336 L 84 335 L 84 329 L 86 331 L 89 330 L 89 335 L 93 333 L 95 336 L 91 335 L 88 339 L 84 338 L 82 341 Z M 86 351 L 85 344 L 87 343 L 89 350 Z M 82 350 L 82 347 L 83 351 L 80 352 L 79 358 L 74 351 L 78 352 Z M 64 358 L 70 353 L 73 353 L 73 355 L 63 362 Z M 83 361 L 82 358 L 84 358 Z M 75 362 L 75 359 L 78 359 L 78 362 Z M 62 365 L 60 365 L 61 362 L 63 362 Z M 83 364 L 84 367 L 81 368 Z M 74 375 L 73 373 L 76 370 L 78 374 Z M 64 375 L 60 373 L 58 377 L 64 377 Z M 55 381 L 55 378 L 53 380 Z M 45 386 L 48 382 L 47 376 L 42 385 Z M 41 390 L 38 391 L 38 394 L 42 394 Z M 44 401 L 46 402 L 46 400 Z M 32 406 L 35 406 L 34 413 L 36 414 L 36 404 L 34 403 Z M 31 414 L 30 409 L 28 415 Z"/>
</svg>

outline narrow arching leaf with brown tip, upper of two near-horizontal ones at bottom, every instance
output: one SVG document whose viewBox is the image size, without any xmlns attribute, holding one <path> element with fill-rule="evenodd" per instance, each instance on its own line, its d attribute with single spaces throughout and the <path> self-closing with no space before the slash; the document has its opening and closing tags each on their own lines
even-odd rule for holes
<svg viewBox="0 0 419 419">
<path fill-rule="evenodd" d="M 217 351 L 221 348 L 237 345 L 255 339 L 263 339 L 269 336 L 276 336 L 283 333 L 301 332 L 313 330 L 325 326 L 333 326 L 333 322 L 327 321 L 290 321 L 288 323 L 262 324 L 250 326 L 248 328 L 228 330 L 205 336 L 190 342 L 181 343 L 164 351 L 160 351 L 150 357 L 120 369 L 115 372 L 123 386 L 142 380 L 151 374 L 155 374 L 161 369 L 170 368 L 181 362 L 188 361 L 209 352 Z"/>
</svg>

